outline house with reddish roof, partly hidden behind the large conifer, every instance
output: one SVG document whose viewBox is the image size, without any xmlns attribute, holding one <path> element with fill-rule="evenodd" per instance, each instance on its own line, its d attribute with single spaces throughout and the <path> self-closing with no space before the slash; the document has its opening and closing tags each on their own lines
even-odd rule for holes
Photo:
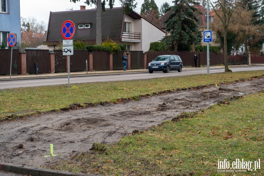
<svg viewBox="0 0 264 176">
<path fill-rule="evenodd" d="M 198 9 L 198 11 L 196 11 L 196 17 L 199 19 L 199 29 L 201 31 L 207 31 L 207 9 L 205 9 L 203 6 L 196 5 L 195 6 L 196 9 Z M 165 13 L 161 18 L 160 18 L 160 28 L 163 31 L 166 31 L 166 24 L 164 23 L 166 21 L 166 19 L 170 16 L 171 11 L 168 11 L 167 13 Z M 209 11 L 209 22 L 213 22 L 214 21 L 214 11 Z M 170 33 L 166 32 L 166 35 L 170 35 Z M 203 35 L 203 33 L 202 33 Z M 217 38 L 216 33 L 214 33 L 214 31 L 212 31 L 212 42 L 210 42 L 211 46 L 219 46 L 219 43 L 214 43 L 214 39 Z M 206 46 L 207 42 L 203 42 L 203 40 L 201 41 L 202 45 Z"/>
</svg>

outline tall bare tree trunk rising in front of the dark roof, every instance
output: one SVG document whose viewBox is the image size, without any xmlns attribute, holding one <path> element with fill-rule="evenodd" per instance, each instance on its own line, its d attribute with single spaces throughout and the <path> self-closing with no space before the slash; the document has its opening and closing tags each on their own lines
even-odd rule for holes
<svg viewBox="0 0 264 176">
<path fill-rule="evenodd" d="M 102 27 L 101 27 L 102 4 L 101 1 L 96 1 L 96 44 L 102 43 Z"/>
</svg>

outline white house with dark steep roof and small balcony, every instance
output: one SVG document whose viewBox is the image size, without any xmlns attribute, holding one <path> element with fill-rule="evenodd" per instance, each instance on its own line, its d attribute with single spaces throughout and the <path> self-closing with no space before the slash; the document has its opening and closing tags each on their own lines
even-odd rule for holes
<svg viewBox="0 0 264 176">
<path fill-rule="evenodd" d="M 43 45 L 54 49 L 64 40 L 61 26 L 66 20 L 75 24 L 75 34 L 71 38 L 74 42 L 96 43 L 96 9 L 86 10 L 85 6 L 81 6 L 76 11 L 50 12 Z M 165 36 L 165 31 L 136 12 L 123 14 L 121 7 L 105 9 L 101 14 L 101 23 L 102 42 L 109 38 L 117 43 L 126 43 L 130 51 L 148 51 L 150 42 L 159 41 Z"/>
</svg>

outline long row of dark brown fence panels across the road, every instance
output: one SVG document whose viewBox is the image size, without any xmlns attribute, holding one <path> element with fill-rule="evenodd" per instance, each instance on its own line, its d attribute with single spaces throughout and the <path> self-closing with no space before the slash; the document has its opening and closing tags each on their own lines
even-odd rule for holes
<svg viewBox="0 0 264 176">
<path fill-rule="evenodd" d="M 49 50 L 25 50 L 26 51 L 26 73 L 35 73 L 34 63 L 38 63 L 38 73 L 50 73 Z M 92 51 L 93 52 L 93 70 L 109 70 L 109 52 Z M 62 55 L 61 50 L 54 50 L 55 72 L 67 72 L 66 56 Z M 123 68 L 122 56 L 124 51 L 119 51 L 112 55 L 113 70 L 121 70 Z M 130 67 L 131 69 L 144 68 L 144 64 L 154 60 L 160 55 L 178 55 L 181 57 L 183 66 L 194 67 L 194 53 L 198 55 L 199 66 L 207 65 L 207 52 L 188 52 L 188 51 L 147 51 L 147 61 L 144 63 L 143 51 L 130 51 Z M 10 57 L 11 49 L 0 49 L 0 74 L 8 75 L 10 73 Z M 70 71 L 86 71 L 86 60 L 89 53 L 87 50 L 74 50 L 74 54 L 70 56 Z M 228 56 L 228 61 L 243 62 L 243 56 Z M 232 62 L 230 62 L 232 63 Z M 233 62 L 235 63 L 235 62 Z M 251 63 L 264 63 L 264 56 L 251 55 Z M 218 54 L 210 52 L 210 66 L 223 65 L 224 53 Z M 13 49 L 12 55 L 12 74 L 21 74 L 20 53 L 18 49 Z M 88 66 L 89 68 L 89 66 Z"/>
</svg>

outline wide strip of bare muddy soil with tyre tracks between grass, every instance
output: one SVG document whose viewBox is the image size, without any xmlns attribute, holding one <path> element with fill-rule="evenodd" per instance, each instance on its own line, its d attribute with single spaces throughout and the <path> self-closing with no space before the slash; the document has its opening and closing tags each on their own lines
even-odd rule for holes
<svg viewBox="0 0 264 176">
<path fill-rule="evenodd" d="M 89 151 L 92 143 L 115 143 L 133 130 L 148 129 L 182 112 L 194 112 L 224 98 L 260 91 L 264 89 L 264 78 L 217 86 L 0 122 L 0 161 L 35 167 L 49 165 Z M 50 144 L 57 156 L 44 157 L 50 154 Z"/>
</svg>

